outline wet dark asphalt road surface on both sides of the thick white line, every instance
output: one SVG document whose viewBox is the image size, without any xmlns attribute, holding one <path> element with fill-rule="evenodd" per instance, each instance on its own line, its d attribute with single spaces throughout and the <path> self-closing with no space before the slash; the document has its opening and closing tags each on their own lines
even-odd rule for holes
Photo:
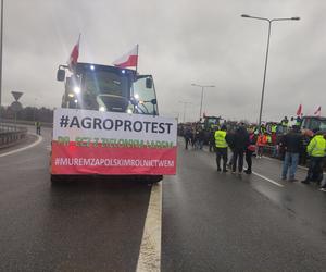
<svg viewBox="0 0 326 272">
<path fill-rule="evenodd" d="M 136 271 L 151 186 L 93 177 L 51 186 L 50 134 L 0 151 L 0 271 Z M 326 193 L 280 181 L 279 161 L 254 160 L 253 170 L 217 173 L 214 154 L 179 143 L 154 222 L 162 271 L 325 271 Z"/>
</svg>

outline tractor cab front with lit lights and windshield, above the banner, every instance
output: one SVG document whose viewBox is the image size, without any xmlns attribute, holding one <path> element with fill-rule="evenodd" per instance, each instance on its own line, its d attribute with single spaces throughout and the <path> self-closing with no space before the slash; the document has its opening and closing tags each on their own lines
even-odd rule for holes
<svg viewBox="0 0 326 272">
<path fill-rule="evenodd" d="M 63 108 L 158 115 L 156 95 L 150 75 L 134 70 L 78 63 L 66 77 Z"/>
</svg>

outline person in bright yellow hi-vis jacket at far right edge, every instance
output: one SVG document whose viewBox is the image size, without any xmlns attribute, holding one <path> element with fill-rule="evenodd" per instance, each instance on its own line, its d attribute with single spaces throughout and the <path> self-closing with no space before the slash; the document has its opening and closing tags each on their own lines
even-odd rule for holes
<svg viewBox="0 0 326 272">
<path fill-rule="evenodd" d="M 309 184 L 311 181 L 321 183 L 323 181 L 323 160 L 326 156 L 326 139 L 322 132 L 317 132 L 306 147 L 310 156 L 306 177 L 302 183 Z"/>
</svg>

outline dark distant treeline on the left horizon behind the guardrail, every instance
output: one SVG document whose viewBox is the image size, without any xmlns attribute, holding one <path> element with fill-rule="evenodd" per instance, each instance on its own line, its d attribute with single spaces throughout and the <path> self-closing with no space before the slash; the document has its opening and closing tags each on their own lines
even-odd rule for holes
<svg viewBox="0 0 326 272">
<path fill-rule="evenodd" d="M 16 112 L 17 120 L 24 121 L 40 121 L 45 123 L 53 122 L 53 110 L 36 107 L 26 107 Z M 11 107 L 2 107 L 0 108 L 0 119 L 15 119 L 15 112 L 11 109 Z"/>
</svg>

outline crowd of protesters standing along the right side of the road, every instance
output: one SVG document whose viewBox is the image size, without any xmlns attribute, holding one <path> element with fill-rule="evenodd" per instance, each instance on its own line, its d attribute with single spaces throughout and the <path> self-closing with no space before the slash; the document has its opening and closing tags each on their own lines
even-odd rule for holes
<svg viewBox="0 0 326 272">
<path fill-rule="evenodd" d="M 283 120 L 284 125 L 288 125 L 288 120 Z M 298 120 L 297 120 L 298 122 Z M 290 182 L 296 178 L 297 166 L 300 159 L 305 162 L 309 157 L 309 169 L 306 177 L 301 181 L 303 184 L 316 182 L 322 189 L 326 190 L 326 178 L 323 181 L 323 163 L 326 158 L 326 135 L 315 131 L 314 136 L 308 143 L 306 137 L 301 133 L 298 123 L 294 123 L 287 133 L 280 137 L 276 136 L 276 129 L 272 125 L 272 133 L 267 132 L 262 125 L 260 129 L 254 126 L 246 126 L 239 123 L 237 126 L 227 127 L 222 124 L 221 127 L 212 129 L 209 138 L 210 151 L 216 152 L 216 168 L 218 172 L 228 172 L 241 175 L 252 173 L 252 156 L 262 158 L 265 147 L 272 148 L 272 157 L 283 158 L 281 180 Z M 186 128 L 185 134 L 186 149 L 192 145 L 193 149 L 202 149 L 204 143 L 204 133 L 202 129 Z M 230 152 L 229 152 L 230 151 Z M 230 158 L 228 160 L 228 157 Z M 247 169 L 243 171 L 243 161 L 247 162 Z M 222 162 L 222 164 L 221 164 Z"/>
</svg>

